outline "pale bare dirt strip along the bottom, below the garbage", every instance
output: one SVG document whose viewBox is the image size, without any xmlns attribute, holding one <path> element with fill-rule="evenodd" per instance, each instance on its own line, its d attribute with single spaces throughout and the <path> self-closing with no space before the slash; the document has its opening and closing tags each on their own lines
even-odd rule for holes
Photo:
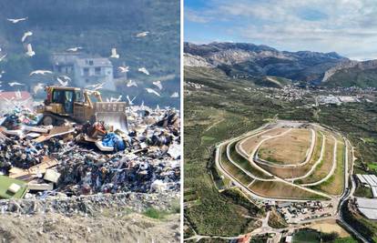
<svg viewBox="0 0 377 243">
<path fill-rule="evenodd" d="M 129 213 L 68 218 L 60 214 L 1 215 L 2 242 L 179 242 L 179 215 Z"/>
</svg>

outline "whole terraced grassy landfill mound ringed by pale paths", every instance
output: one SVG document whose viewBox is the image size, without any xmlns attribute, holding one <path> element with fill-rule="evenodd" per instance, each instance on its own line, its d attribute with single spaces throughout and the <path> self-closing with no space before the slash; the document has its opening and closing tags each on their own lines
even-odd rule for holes
<svg viewBox="0 0 377 243">
<path fill-rule="evenodd" d="M 254 197 L 330 199 L 344 191 L 345 145 L 330 128 L 277 123 L 220 144 L 218 168 L 224 181 Z"/>
</svg>

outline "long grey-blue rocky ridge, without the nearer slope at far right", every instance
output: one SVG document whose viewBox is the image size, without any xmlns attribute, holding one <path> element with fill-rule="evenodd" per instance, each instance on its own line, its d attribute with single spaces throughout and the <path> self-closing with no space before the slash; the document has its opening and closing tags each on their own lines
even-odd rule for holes
<svg viewBox="0 0 377 243">
<path fill-rule="evenodd" d="M 321 82 L 325 72 L 349 62 L 335 52 L 279 51 L 247 43 L 185 43 L 185 66 L 214 66 L 229 76 L 282 76 L 297 81 Z"/>
</svg>

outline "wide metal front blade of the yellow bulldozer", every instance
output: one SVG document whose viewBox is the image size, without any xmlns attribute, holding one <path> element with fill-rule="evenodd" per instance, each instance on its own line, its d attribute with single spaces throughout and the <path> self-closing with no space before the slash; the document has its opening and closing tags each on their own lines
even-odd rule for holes
<svg viewBox="0 0 377 243">
<path fill-rule="evenodd" d="M 95 103 L 97 121 L 114 127 L 114 130 L 127 131 L 126 102 L 97 102 Z"/>
</svg>

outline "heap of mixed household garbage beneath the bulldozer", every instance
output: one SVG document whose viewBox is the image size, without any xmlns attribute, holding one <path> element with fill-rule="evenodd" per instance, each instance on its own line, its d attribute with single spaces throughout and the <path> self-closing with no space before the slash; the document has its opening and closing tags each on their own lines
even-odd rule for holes
<svg viewBox="0 0 377 243">
<path fill-rule="evenodd" d="M 0 197 L 178 191 L 178 114 L 130 106 L 123 131 L 101 121 L 38 126 L 41 116 L 15 108 L 0 118 Z"/>
</svg>

